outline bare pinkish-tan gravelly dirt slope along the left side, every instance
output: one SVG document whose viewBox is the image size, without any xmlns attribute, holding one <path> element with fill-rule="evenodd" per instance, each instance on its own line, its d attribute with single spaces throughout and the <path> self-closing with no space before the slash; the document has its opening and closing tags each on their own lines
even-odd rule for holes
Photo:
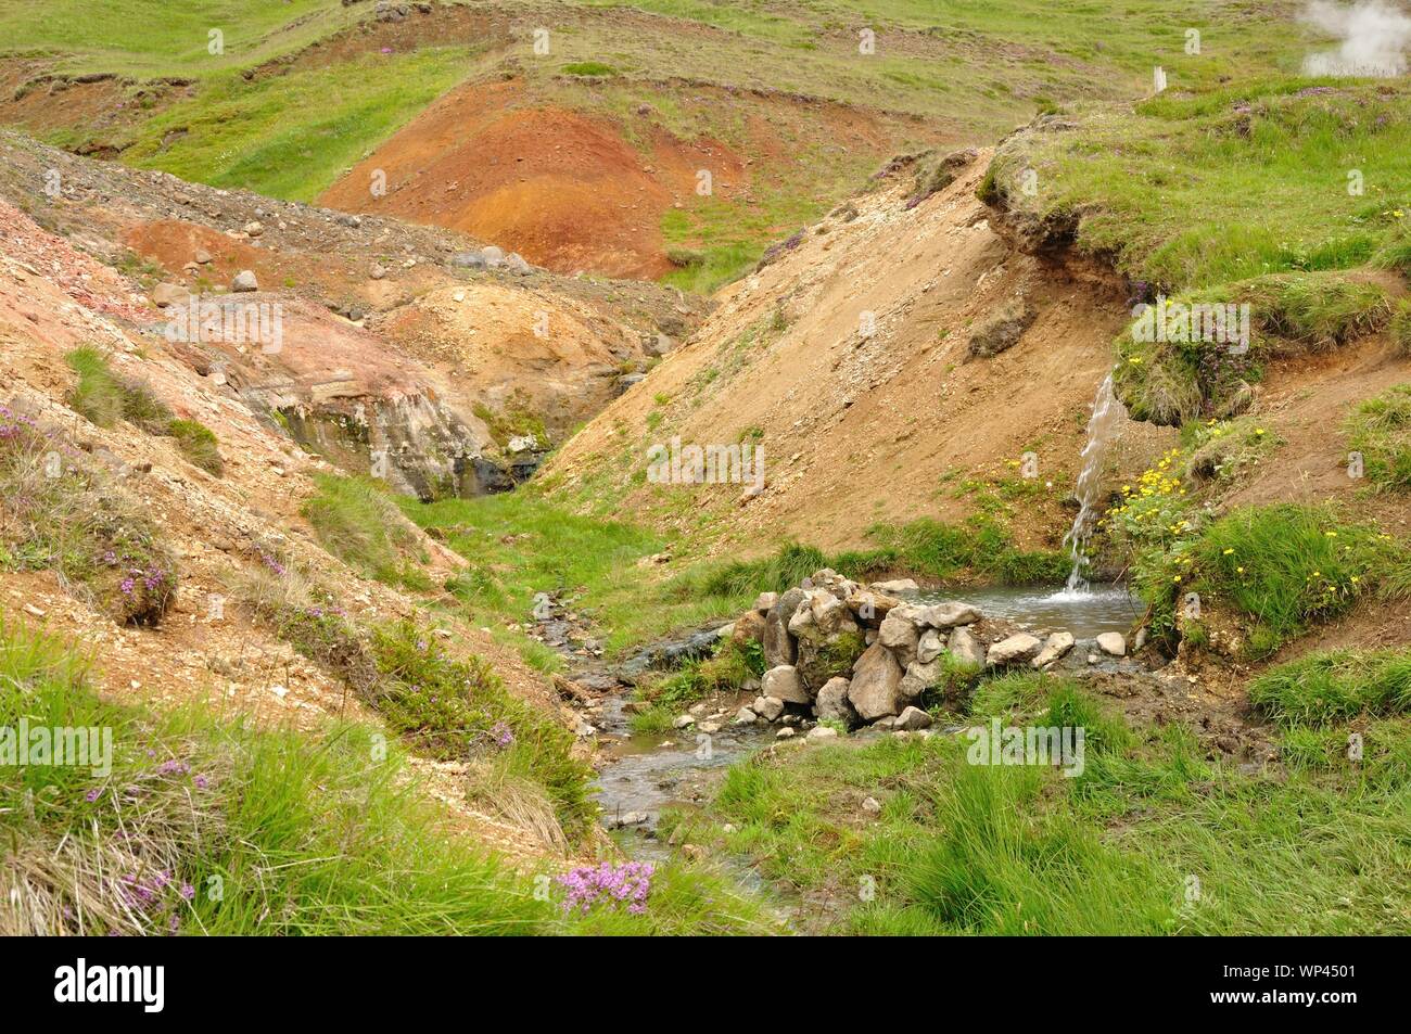
<svg viewBox="0 0 1411 1034">
<path fill-rule="evenodd" d="M 116 625 L 51 571 L 6 574 L 0 614 L 85 645 L 100 669 L 102 691 L 119 700 L 203 702 L 296 728 L 333 717 L 375 721 L 341 683 L 247 614 L 230 585 L 240 570 L 261 563 L 257 546 L 277 545 L 358 618 L 411 618 L 425 614 L 425 601 L 360 577 L 317 545 L 301 506 L 313 492 L 312 475 L 330 467 L 271 432 L 229 388 L 193 372 L 155 327 L 137 284 L 0 202 L 0 402 L 66 430 L 86 464 L 134 494 L 172 545 L 182 577 L 176 609 L 158 628 Z M 209 426 L 224 475 L 189 464 L 169 437 L 126 422 L 104 430 L 73 412 L 65 403 L 73 374 L 63 355 L 79 346 L 107 350 L 119 374 L 145 379 L 178 416 Z M 436 577 L 461 564 L 435 542 L 425 549 Z M 557 708 L 553 690 L 516 655 L 452 616 L 439 622 L 454 649 L 487 657 L 511 688 Z M 420 769 L 425 790 L 450 807 L 453 825 L 516 856 L 543 851 L 526 831 L 467 807 L 456 766 Z"/>
</svg>

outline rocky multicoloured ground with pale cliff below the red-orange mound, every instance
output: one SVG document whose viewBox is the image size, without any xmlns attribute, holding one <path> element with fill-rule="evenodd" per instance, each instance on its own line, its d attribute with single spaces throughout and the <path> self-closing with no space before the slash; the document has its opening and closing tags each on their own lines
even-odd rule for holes
<svg viewBox="0 0 1411 1034">
<path fill-rule="evenodd" d="M 147 303 L 130 305 L 176 317 L 193 298 L 279 306 L 279 351 L 207 334 L 182 355 L 205 377 L 223 367 L 247 403 L 346 468 L 365 473 L 384 451 L 398 487 L 423 498 L 509 487 L 704 309 L 652 285 L 547 274 L 452 231 L 134 172 L 16 134 L 0 148 L 0 192 L 135 274 Z M 512 450 L 516 423 L 540 430 Z"/>
</svg>

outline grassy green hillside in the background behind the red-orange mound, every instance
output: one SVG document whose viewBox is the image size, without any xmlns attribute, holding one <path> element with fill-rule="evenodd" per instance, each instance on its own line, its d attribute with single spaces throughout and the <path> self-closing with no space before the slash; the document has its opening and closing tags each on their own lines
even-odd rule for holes
<svg viewBox="0 0 1411 1034">
<path fill-rule="evenodd" d="M 505 0 L 391 24 L 371 21 L 371 3 L 337 0 L 56 7 L 0 13 L 0 75 L 8 66 L 18 92 L 37 73 L 123 76 L 102 87 L 113 90 L 103 124 L 32 100 L 10 113 L 0 102 L 0 121 L 217 186 L 312 200 L 447 89 L 499 75 L 523 83 L 526 106 L 612 120 L 643 144 L 643 164 L 642 128 L 722 141 L 755 165 L 748 193 L 689 199 L 660 219 L 676 262 L 666 279 L 693 291 L 738 276 L 896 151 L 989 142 L 1055 104 L 1141 96 L 1157 63 L 1182 87 L 1290 71 L 1305 49 L 1291 4 L 1230 0 L 1134 0 L 1119 13 L 1079 0 Z M 547 54 L 529 25 L 547 30 Z M 1188 31 L 1199 54 L 1185 52 Z M 165 76 L 193 85 L 154 96 L 145 80 Z M 701 86 L 759 96 L 722 104 Z M 842 117 L 865 138 L 838 147 Z"/>
</svg>

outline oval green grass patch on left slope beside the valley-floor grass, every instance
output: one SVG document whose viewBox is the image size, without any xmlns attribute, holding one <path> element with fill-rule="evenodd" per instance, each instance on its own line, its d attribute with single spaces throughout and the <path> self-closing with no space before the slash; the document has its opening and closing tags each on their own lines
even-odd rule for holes
<svg viewBox="0 0 1411 1034">
<path fill-rule="evenodd" d="M 388 585 L 432 588 L 418 567 L 428 557 L 420 536 L 375 481 L 316 474 L 317 494 L 302 513 L 326 550 L 365 577 Z"/>
</svg>

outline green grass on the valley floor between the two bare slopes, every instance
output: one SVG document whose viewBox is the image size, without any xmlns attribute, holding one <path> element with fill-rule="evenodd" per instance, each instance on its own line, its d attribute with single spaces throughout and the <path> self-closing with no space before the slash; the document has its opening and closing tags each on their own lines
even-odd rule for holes
<svg viewBox="0 0 1411 1034">
<path fill-rule="evenodd" d="M 825 554 L 785 543 L 753 560 L 697 561 L 686 566 L 639 566 L 667 543 L 646 529 L 574 513 L 535 489 L 478 499 L 419 504 L 401 499 L 402 511 L 442 537 L 470 566 L 447 588 L 467 607 L 468 619 L 491 624 L 531 663 L 552 667 L 518 626 L 532 619 L 533 601 L 547 592 L 591 619 L 611 655 L 672 632 L 738 616 L 761 592 L 797 585 L 824 567 L 855 580 L 913 573 L 941 581 L 1061 581 L 1067 560 L 1013 546 L 989 519 L 961 528 L 934 521 L 878 525 L 878 547 Z M 682 550 L 677 549 L 677 553 Z"/>
</svg>

